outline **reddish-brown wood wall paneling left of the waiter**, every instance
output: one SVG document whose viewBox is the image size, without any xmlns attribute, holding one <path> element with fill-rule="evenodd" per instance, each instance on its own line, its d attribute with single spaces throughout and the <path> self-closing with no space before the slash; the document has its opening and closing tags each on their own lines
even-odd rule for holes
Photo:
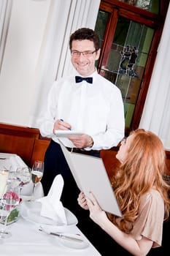
<svg viewBox="0 0 170 256">
<path fill-rule="evenodd" d="M 50 140 L 41 140 L 39 129 L 0 123 L 0 152 L 18 154 L 26 165 L 44 159 Z"/>
</svg>

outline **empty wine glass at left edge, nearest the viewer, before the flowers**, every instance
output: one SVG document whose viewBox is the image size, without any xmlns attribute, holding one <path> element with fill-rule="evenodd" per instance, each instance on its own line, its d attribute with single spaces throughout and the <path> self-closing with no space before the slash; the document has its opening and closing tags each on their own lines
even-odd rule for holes
<svg viewBox="0 0 170 256">
<path fill-rule="evenodd" d="M 20 203 L 20 197 L 18 196 L 18 188 L 7 189 L 0 201 L 0 222 L 3 227 L 0 230 L 0 239 L 11 236 L 7 229 L 8 217 L 11 211 Z"/>
</svg>

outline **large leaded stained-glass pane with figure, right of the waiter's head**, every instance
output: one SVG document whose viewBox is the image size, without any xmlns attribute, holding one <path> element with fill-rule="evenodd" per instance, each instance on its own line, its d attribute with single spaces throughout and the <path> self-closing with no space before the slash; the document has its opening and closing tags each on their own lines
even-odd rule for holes
<svg viewBox="0 0 170 256">
<path fill-rule="evenodd" d="M 104 17 L 102 19 L 104 20 Z M 100 29 L 98 24 L 99 22 L 96 24 L 96 31 Z M 102 33 L 104 35 L 104 32 Z M 125 127 L 131 126 L 153 35 L 153 29 L 119 17 L 107 67 L 101 67 L 104 77 L 115 83 L 122 92 Z"/>
</svg>

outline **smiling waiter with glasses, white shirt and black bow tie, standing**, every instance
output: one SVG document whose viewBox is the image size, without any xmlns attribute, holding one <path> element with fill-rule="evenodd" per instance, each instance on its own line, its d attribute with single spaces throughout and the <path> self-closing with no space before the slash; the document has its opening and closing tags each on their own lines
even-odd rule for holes
<svg viewBox="0 0 170 256">
<path fill-rule="evenodd" d="M 100 46 L 95 31 L 78 29 L 71 35 L 69 47 L 76 77 L 61 78 L 53 83 L 47 106 L 39 120 L 39 129 L 42 136 L 52 138 L 45 154 L 42 178 L 45 195 L 55 176 L 61 173 L 64 180 L 61 202 L 78 217 L 81 208 L 77 197 L 80 191 L 58 144 L 55 130 L 82 132 L 82 135 L 61 140 L 69 151 L 74 148 L 77 153 L 99 157 L 101 149 L 117 146 L 124 137 L 125 121 L 120 90 L 96 71 Z"/>
</svg>

